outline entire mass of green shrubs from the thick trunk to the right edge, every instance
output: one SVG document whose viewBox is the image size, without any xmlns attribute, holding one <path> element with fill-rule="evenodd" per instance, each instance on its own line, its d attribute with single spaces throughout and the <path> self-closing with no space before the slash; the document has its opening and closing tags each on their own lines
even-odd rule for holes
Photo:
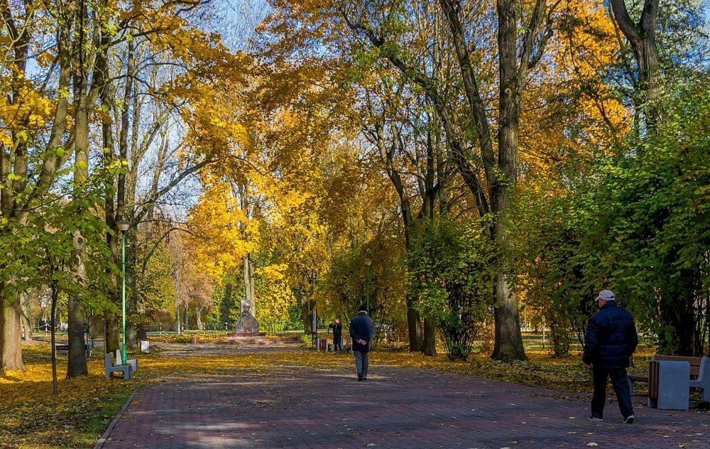
<svg viewBox="0 0 710 449">
<path fill-rule="evenodd" d="M 652 330 L 658 350 L 701 355 L 710 313 L 710 95 L 677 91 L 659 132 L 619 146 L 565 195 L 523 193 L 518 264 L 528 305 L 553 326 L 584 330 L 611 288 Z"/>
</svg>

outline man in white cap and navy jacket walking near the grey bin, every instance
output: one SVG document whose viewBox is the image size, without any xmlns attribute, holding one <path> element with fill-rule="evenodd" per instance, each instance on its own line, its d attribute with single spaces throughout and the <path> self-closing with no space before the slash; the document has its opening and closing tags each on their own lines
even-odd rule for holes
<svg viewBox="0 0 710 449">
<path fill-rule="evenodd" d="M 606 382 L 611 377 L 623 422 L 631 424 L 634 417 L 626 368 L 638 345 L 636 326 L 631 314 L 616 305 L 611 291 L 601 291 L 595 301 L 601 310 L 589 320 L 582 357 L 594 379 L 589 421 L 603 421 Z"/>
</svg>

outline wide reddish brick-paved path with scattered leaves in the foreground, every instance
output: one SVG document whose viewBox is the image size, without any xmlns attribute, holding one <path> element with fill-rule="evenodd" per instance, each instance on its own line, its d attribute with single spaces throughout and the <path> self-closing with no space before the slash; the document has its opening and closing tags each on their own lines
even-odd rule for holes
<svg viewBox="0 0 710 449">
<path fill-rule="evenodd" d="M 609 404 L 607 421 L 589 423 L 585 396 L 561 396 L 377 365 L 364 384 L 270 367 L 146 386 L 104 448 L 710 448 L 708 414 L 637 408 L 628 426 Z"/>
</svg>

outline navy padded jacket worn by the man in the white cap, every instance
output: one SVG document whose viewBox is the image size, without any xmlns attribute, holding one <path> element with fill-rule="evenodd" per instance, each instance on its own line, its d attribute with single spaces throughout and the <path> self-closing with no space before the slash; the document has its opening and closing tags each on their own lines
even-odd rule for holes
<svg viewBox="0 0 710 449">
<path fill-rule="evenodd" d="M 612 301 L 589 320 L 582 360 L 595 368 L 626 368 L 636 346 L 638 334 L 631 314 Z"/>
</svg>

